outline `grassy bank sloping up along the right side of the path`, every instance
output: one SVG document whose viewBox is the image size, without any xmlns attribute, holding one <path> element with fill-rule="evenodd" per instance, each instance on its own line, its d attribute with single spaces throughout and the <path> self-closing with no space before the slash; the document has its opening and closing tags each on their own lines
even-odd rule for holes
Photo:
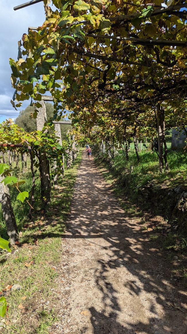
<svg viewBox="0 0 187 334">
<path fill-rule="evenodd" d="M 154 180 L 156 185 L 166 185 L 166 193 L 178 185 L 187 186 L 187 154 L 169 151 L 169 172 L 158 172 L 158 158 L 156 153 L 143 151 L 140 153 L 140 163 L 136 156 L 129 154 L 129 161 L 125 160 L 122 152 L 111 161 L 106 155 L 95 154 L 95 161 L 105 180 L 112 185 L 114 193 L 120 200 L 128 214 L 137 217 L 142 233 L 148 231 L 149 238 L 155 247 L 164 249 L 168 260 L 179 261 L 180 276 L 187 277 L 187 270 L 182 266 L 187 254 L 186 231 L 180 228 L 179 221 L 173 226 L 168 224 L 167 215 L 169 205 L 166 198 L 160 198 L 159 188 L 155 187 L 153 198 L 142 200 L 140 192 Z M 132 166 L 132 167 L 130 167 Z M 130 168 L 133 169 L 130 173 Z M 154 205 L 158 199 L 159 205 Z M 160 201 L 160 202 L 159 202 Z M 141 217 L 141 218 L 140 218 Z M 180 266 L 181 261 L 181 266 Z"/>
</svg>

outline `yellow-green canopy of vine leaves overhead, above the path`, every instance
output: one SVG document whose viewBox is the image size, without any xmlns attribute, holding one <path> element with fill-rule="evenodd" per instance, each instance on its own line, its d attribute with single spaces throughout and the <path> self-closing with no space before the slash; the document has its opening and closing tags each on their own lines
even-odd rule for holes
<svg viewBox="0 0 187 334">
<path fill-rule="evenodd" d="M 46 21 L 23 34 L 18 61 L 10 59 L 16 108 L 32 98 L 37 113 L 50 91 L 54 118 L 66 108 L 74 123 L 89 127 L 103 117 L 155 127 L 157 103 L 167 109 L 168 127 L 186 123 L 185 2 L 45 0 L 44 6 Z"/>
</svg>

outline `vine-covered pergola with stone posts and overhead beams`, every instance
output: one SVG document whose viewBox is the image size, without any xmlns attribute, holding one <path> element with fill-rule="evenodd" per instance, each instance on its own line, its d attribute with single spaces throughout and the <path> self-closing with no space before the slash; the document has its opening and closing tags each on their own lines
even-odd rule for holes
<svg viewBox="0 0 187 334">
<path fill-rule="evenodd" d="M 38 2 L 32 0 L 14 10 Z M 33 164 L 40 169 L 44 202 L 51 200 L 49 161 L 56 182 L 64 172 L 64 154 L 68 167 L 76 157 L 74 136 L 72 141 L 68 134 L 66 144 L 62 143 L 60 124 L 72 123 L 74 134 L 85 134 L 102 149 L 105 143 L 110 156 L 115 147 L 121 147 L 128 159 L 128 142 L 133 138 L 138 161 L 137 138 L 157 134 L 159 170 L 163 171 L 164 162 L 168 169 L 165 128 L 187 123 L 186 3 L 43 3 L 45 22 L 29 27 L 18 42 L 18 60 L 10 58 L 15 89 L 11 103 L 19 108 L 31 98 L 37 132 L 23 133 L 7 122 L 0 141 L 22 145 L 12 147 L 32 153 Z M 54 103 L 54 117 L 49 121 L 44 101 Z M 64 110 L 71 110 L 71 122 L 61 121 Z M 51 127 L 53 135 L 48 133 Z M 10 133 L 15 134 L 11 143 Z M 32 175 L 34 189 L 33 170 Z"/>
</svg>

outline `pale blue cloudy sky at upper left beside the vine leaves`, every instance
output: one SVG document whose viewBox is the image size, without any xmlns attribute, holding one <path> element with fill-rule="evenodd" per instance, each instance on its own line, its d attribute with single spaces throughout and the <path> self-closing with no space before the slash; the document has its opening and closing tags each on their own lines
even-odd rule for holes
<svg viewBox="0 0 187 334">
<path fill-rule="evenodd" d="M 0 122 L 7 118 L 16 118 L 19 111 L 26 108 L 29 101 L 23 103 L 18 111 L 12 108 L 10 100 L 14 94 L 11 85 L 11 68 L 9 58 L 17 60 L 18 40 L 28 32 L 29 26 L 40 26 L 45 21 L 43 2 L 32 6 L 13 10 L 14 6 L 20 5 L 26 0 L 1 0 L 0 11 Z"/>
</svg>

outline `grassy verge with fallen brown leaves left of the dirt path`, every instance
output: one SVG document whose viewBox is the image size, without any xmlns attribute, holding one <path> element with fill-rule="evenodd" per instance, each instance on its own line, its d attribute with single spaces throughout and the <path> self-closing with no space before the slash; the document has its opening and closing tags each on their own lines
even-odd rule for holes
<svg viewBox="0 0 187 334">
<path fill-rule="evenodd" d="M 55 279 L 57 265 L 63 253 L 62 238 L 65 221 L 70 213 L 73 187 L 81 162 L 82 151 L 58 188 L 52 190 L 52 202 L 48 211 L 38 211 L 30 222 L 24 206 L 12 201 L 20 232 L 20 245 L 12 253 L 0 253 L 0 296 L 4 295 L 8 311 L 4 318 L 4 333 L 48 333 L 48 327 L 57 320 L 55 314 Z M 28 174 L 27 174 L 28 173 Z M 29 183 L 30 173 L 22 178 Z M 25 186 L 25 185 L 24 185 Z M 26 184 L 27 186 L 27 184 Z M 11 194 L 14 197 L 14 193 Z M 26 211 L 27 212 L 27 211 Z M 0 233 L 6 236 L 3 221 Z M 11 290 L 18 284 L 20 290 Z"/>
</svg>

